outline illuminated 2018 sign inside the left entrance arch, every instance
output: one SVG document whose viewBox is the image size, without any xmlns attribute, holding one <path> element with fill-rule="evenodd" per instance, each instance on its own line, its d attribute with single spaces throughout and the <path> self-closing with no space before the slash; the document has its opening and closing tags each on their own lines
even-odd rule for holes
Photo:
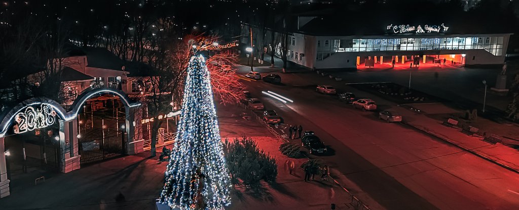
<svg viewBox="0 0 519 210">
<path fill-rule="evenodd" d="M 42 103 L 39 107 L 26 107 L 15 115 L 17 126 L 13 126 L 15 133 L 23 133 L 38 128 L 45 128 L 56 123 L 56 111 L 48 104 Z"/>
</svg>

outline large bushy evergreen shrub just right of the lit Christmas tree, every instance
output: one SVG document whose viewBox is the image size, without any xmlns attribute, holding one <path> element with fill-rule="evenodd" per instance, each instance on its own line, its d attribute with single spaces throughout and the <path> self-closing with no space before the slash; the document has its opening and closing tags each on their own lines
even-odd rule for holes
<svg viewBox="0 0 519 210">
<path fill-rule="evenodd" d="M 225 139 L 224 153 L 231 175 L 231 182 L 257 186 L 263 179 L 275 182 L 278 175 L 276 159 L 260 149 L 251 138 Z"/>
</svg>

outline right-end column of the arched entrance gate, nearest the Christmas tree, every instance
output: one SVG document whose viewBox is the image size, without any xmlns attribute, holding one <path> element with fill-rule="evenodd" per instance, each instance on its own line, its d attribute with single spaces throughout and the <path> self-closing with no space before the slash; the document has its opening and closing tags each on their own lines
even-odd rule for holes
<svg viewBox="0 0 519 210">
<path fill-rule="evenodd" d="M 125 130 L 126 132 L 126 149 L 128 155 L 135 155 L 144 152 L 144 140 L 142 138 L 135 138 L 136 129 L 138 129 L 141 123 L 141 117 L 137 114 L 140 113 L 139 109 L 141 107 L 128 107 L 125 106 L 126 110 L 126 119 L 125 119 Z"/>
</svg>

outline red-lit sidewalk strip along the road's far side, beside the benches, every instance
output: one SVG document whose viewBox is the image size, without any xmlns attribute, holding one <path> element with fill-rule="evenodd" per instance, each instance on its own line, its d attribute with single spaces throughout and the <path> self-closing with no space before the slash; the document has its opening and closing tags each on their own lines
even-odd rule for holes
<svg viewBox="0 0 519 210">
<path fill-rule="evenodd" d="M 460 132 L 459 128 L 449 128 L 442 125 L 441 121 L 403 107 L 395 107 L 393 109 L 402 115 L 404 124 L 415 127 L 450 144 L 454 144 L 467 152 L 519 173 L 519 153 L 516 149 L 501 143 L 490 144 L 483 141 L 482 137 L 468 136 Z"/>
</svg>

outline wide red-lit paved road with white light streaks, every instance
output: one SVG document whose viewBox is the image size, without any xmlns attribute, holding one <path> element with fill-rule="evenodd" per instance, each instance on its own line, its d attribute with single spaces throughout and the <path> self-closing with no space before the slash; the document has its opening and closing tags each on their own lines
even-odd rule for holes
<svg viewBox="0 0 519 210">
<path fill-rule="evenodd" d="M 272 71 L 258 68 L 258 71 Z M 248 68 L 240 68 L 243 74 Z M 519 175 L 400 124 L 380 121 L 374 112 L 354 110 L 332 96 L 317 94 L 316 74 L 282 74 L 285 85 L 245 81 L 254 97 L 286 123 L 313 130 L 334 151 L 322 156 L 387 209 L 517 209 Z M 298 78 L 298 79 L 294 79 Z M 312 83 L 308 82 L 308 83 Z M 340 90 L 345 87 L 338 87 Z M 294 100 L 282 103 L 261 91 Z M 350 91 L 350 89 L 348 89 Z M 380 109 L 395 104 L 378 101 Z"/>
</svg>

